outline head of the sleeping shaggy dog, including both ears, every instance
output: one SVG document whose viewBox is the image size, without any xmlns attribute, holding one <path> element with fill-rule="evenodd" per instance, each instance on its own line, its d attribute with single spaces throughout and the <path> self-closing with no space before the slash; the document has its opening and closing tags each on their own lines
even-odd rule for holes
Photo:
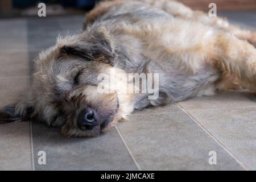
<svg viewBox="0 0 256 182">
<path fill-rule="evenodd" d="M 56 46 L 40 53 L 31 88 L 18 104 L 0 111 L 0 122 L 32 119 L 61 126 L 69 137 L 99 135 L 133 111 L 130 95 L 118 94 L 119 88 L 99 92 L 99 75 L 126 74 L 114 62 L 114 47 L 105 28 L 59 38 Z"/>
</svg>

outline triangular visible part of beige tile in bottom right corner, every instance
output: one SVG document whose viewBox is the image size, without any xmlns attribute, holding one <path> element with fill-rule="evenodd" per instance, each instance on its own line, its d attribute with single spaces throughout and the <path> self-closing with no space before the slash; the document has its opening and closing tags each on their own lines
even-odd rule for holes
<svg viewBox="0 0 256 182">
<path fill-rule="evenodd" d="M 190 113 L 247 168 L 256 170 L 256 106 Z"/>
</svg>

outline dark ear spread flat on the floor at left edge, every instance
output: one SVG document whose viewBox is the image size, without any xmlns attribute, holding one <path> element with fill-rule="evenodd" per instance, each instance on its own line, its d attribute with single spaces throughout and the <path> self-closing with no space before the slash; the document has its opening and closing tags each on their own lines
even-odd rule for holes
<svg viewBox="0 0 256 182">
<path fill-rule="evenodd" d="M 19 104 L 7 105 L 0 110 L 0 123 L 27 121 L 33 118 L 33 107 L 20 102 Z"/>
</svg>

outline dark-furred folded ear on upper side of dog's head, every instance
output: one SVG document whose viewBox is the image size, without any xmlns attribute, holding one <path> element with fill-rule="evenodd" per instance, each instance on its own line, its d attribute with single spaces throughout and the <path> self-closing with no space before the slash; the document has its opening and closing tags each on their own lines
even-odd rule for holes
<svg viewBox="0 0 256 182">
<path fill-rule="evenodd" d="M 63 46 L 61 52 L 64 55 L 76 55 L 82 59 L 103 61 L 111 65 L 115 58 L 112 40 L 104 27 L 88 32 L 75 44 Z"/>
</svg>

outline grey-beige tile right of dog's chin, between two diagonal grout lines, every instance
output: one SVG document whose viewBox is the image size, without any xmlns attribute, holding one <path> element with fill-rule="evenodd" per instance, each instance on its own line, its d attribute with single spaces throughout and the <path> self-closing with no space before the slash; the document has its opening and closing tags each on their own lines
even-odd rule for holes
<svg viewBox="0 0 256 182">
<path fill-rule="evenodd" d="M 185 113 L 134 115 L 117 129 L 142 170 L 243 170 Z"/>
</svg>

